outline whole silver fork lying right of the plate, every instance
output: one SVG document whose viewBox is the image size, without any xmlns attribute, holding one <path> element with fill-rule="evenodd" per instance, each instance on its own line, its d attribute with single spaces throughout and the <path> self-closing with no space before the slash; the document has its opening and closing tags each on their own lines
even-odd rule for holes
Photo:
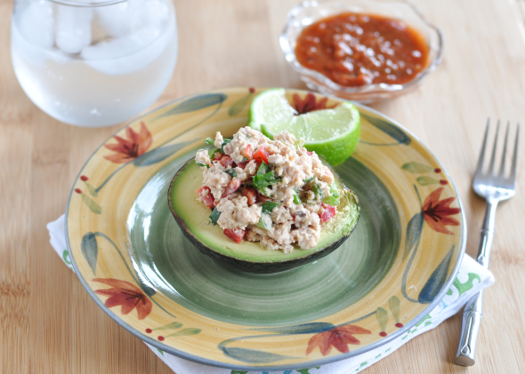
<svg viewBox="0 0 525 374">
<path fill-rule="evenodd" d="M 484 198 L 487 201 L 487 211 L 485 212 L 485 219 L 483 220 L 483 227 L 481 227 L 481 238 L 478 248 L 478 262 L 486 268 L 489 268 L 490 248 L 492 247 L 492 239 L 494 238 L 494 223 L 496 219 L 497 203 L 510 199 L 515 195 L 516 185 L 516 171 L 518 163 L 518 138 L 520 135 L 520 123 L 516 129 L 516 139 L 514 143 L 513 160 L 511 165 L 510 175 L 505 176 L 505 156 L 507 150 L 507 140 L 509 138 L 510 123 L 507 123 L 505 131 L 505 143 L 503 146 L 503 155 L 499 171 L 494 171 L 494 164 L 496 161 L 497 148 L 497 133 L 499 131 L 499 121 L 497 122 L 496 139 L 494 140 L 494 147 L 492 148 L 492 156 L 490 158 L 489 170 L 483 172 L 485 158 L 485 148 L 487 146 L 487 138 L 489 135 L 489 123 L 487 122 L 487 130 L 485 131 L 485 139 L 483 139 L 483 146 L 481 147 L 480 158 L 478 159 L 478 166 L 474 174 L 472 182 L 472 189 L 476 195 Z M 481 316 L 483 314 L 483 291 L 472 296 L 464 306 L 463 322 L 461 326 L 461 338 L 456 353 L 456 364 L 462 366 L 472 366 L 476 356 L 476 340 L 481 326 Z"/>
</svg>

